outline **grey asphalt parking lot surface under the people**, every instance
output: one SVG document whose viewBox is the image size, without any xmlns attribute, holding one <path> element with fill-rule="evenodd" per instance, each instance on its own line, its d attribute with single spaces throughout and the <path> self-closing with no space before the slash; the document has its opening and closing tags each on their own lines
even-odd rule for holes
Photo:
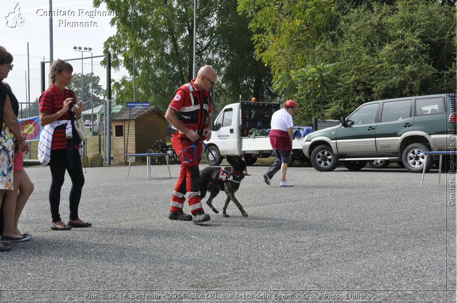
<svg viewBox="0 0 457 303">
<path fill-rule="evenodd" d="M 202 165 L 202 168 L 206 165 Z M 1 302 L 422 302 L 456 295 L 452 176 L 400 168 L 318 172 L 290 167 L 293 188 L 250 176 L 207 224 L 167 219 L 178 165 L 87 168 L 80 218 L 53 231 L 48 167 L 26 167 L 35 191 L 20 228 L 31 240 L 0 253 Z M 455 176 L 455 175 L 454 175 Z M 68 175 L 60 213 L 68 218 Z M 206 200 L 206 199 L 204 199 Z M 451 203 L 452 204 L 452 203 Z M 206 206 L 206 204 L 204 204 Z M 184 209 L 189 212 L 188 205 Z M 64 219 L 65 221 L 65 219 Z"/>
</svg>

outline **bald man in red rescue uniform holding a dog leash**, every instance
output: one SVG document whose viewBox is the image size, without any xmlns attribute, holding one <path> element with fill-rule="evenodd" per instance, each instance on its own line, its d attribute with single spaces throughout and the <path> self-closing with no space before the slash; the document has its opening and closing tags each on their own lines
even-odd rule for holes
<svg viewBox="0 0 457 303">
<path fill-rule="evenodd" d="M 211 97 L 209 90 L 214 86 L 217 73 L 210 65 L 200 68 L 197 78 L 182 85 L 175 92 L 165 119 L 170 122 L 175 133 L 171 145 L 181 159 L 181 171 L 175 190 L 171 196 L 168 219 L 190 221 L 198 224 L 211 219 L 203 211 L 200 201 L 200 156 L 202 141 L 211 138 Z M 202 140 L 200 140 L 200 137 Z M 185 195 L 189 193 L 191 214 L 182 211 Z"/>
</svg>

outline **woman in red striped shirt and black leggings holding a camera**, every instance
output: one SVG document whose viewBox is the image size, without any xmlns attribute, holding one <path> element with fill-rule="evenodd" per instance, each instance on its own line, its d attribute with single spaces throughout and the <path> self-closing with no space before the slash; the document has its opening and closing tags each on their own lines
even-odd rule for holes
<svg viewBox="0 0 457 303">
<path fill-rule="evenodd" d="M 51 204 L 52 230 L 69 230 L 72 227 L 89 227 L 92 223 L 84 222 L 78 217 L 78 207 L 84 185 L 84 174 L 80 160 L 80 139 L 70 125 L 74 117 L 80 116 L 84 104 L 76 101 L 76 96 L 66 86 L 73 78 L 73 67 L 68 62 L 57 59 L 51 66 L 51 86 L 40 96 L 39 114 L 43 131 L 40 136 L 41 153 L 46 155 L 45 165 L 51 168 Z M 52 143 L 42 144 L 41 137 L 52 136 Z M 40 153 L 40 151 L 38 151 Z M 41 161 L 41 159 L 40 159 Z M 46 163 L 48 162 L 48 163 Z M 72 186 L 69 196 L 69 221 L 65 224 L 60 218 L 60 190 L 64 184 L 65 170 L 68 172 Z"/>
</svg>

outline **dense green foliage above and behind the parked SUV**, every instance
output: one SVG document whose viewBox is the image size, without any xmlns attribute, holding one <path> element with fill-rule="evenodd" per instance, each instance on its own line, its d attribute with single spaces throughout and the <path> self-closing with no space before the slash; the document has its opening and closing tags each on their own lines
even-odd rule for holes
<svg viewBox="0 0 457 303">
<path fill-rule="evenodd" d="M 455 7 L 444 1 L 239 0 L 238 10 L 252 17 L 274 89 L 298 102 L 298 123 L 456 89 Z"/>
</svg>

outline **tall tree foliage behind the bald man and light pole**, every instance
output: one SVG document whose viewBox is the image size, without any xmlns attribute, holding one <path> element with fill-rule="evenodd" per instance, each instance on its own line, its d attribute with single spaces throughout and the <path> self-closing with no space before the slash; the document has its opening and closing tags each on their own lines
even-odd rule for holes
<svg viewBox="0 0 457 303">
<path fill-rule="evenodd" d="M 166 110 L 175 90 L 193 78 L 193 1 L 95 0 L 94 5 L 102 2 L 121 12 L 111 23 L 116 35 L 105 42 L 112 66 L 129 71 L 113 84 L 116 103 L 133 101 L 134 72 L 135 99 Z M 196 69 L 205 64 L 216 69 L 218 100 L 237 102 L 239 94 L 267 99 L 269 68 L 255 59 L 249 21 L 236 8 L 236 0 L 198 1 Z"/>
</svg>

